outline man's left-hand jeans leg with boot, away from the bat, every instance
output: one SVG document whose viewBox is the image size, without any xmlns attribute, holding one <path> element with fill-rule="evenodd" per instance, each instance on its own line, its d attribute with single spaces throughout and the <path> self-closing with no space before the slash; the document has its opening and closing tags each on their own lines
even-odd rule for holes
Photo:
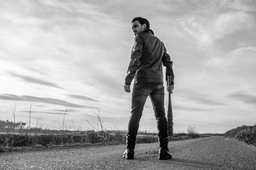
<svg viewBox="0 0 256 170">
<path fill-rule="evenodd" d="M 134 85 L 134 89 L 132 90 L 132 111 L 126 138 L 127 146 L 125 152 L 123 153 L 123 157 L 125 159 L 134 159 L 136 136 L 138 133 L 140 118 L 145 102 L 147 100 L 147 96 L 147 87 L 139 87 L 138 85 Z"/>
</svg>

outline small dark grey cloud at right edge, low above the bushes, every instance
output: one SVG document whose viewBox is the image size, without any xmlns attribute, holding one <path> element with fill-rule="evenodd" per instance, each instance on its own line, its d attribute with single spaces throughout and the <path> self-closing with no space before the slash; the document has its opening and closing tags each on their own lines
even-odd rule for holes
<svg viewBox="0 0 256 170">
<path fill-rule="evenodd" d="M 232 99 L 236 99 L 239 101 L 243 101 L 247 104 L 254 104 L 256 103 L 256 96 L 252 94 L 247 94 L 246 92 L 239 91 L 239 92 L 233 92 L 232 94 L 229 94 L 227 97 L 230 97 Z"/>
</svg>

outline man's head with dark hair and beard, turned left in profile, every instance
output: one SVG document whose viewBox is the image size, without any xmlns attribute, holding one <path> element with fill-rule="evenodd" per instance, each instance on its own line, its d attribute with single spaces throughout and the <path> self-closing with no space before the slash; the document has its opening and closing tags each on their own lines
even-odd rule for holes
<svg viewBox="0 0 256 170">
<path fill-rule="evenodd" d="M 135 17 L 132 19 L 132 31 L 134 32 L 134 35 L 149 28 L 150 24 L 147 19 L 141 17 Z"/>
</svg>

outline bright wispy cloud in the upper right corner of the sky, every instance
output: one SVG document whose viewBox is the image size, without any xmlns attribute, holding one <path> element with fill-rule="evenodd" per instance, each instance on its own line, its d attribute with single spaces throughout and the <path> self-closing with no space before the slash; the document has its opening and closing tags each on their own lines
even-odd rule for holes
<svg viewBox="0 0 256 170">
<path fill-rule="evenodd" d="M 199 43 L 211 45 L 228 34 L 239 30 L 250 30 L 255 26 L 254 15 L 245 10 L 250 5 L 242 3 L 244 1 L 239 1 L 239 3 L 238 1 L 235 3 L 233 1 L 225 1 L 225 3 L 214 1 L 213 4 L 195 2 L 197 2 L 194 4 L 195 10 L 178 20 L 177 32 L 186 39 L 191 41 L 197 39 Z M 244 4 L 244 6 L 237 8 L 237 4 Z"/>
</svg>

